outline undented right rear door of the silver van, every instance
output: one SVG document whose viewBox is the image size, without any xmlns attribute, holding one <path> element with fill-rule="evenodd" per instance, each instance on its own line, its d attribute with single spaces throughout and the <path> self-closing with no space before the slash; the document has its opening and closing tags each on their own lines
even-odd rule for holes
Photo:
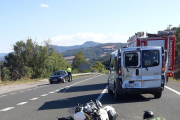
<svg viewBox="0 0 180 120">
<path fill-rule="evenodd" d="M 161 49 L 142 50 L 142 88 L 161 87 L 162 57 Z"/>
</svg>

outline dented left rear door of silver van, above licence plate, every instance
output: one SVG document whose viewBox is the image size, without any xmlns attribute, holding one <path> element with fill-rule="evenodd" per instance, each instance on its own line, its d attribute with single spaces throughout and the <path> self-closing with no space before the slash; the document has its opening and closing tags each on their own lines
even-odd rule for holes
<svg viewBox="0 0 180 120">
<path fill-rule="evenodd" d="M 122 88 L 141 88 L 141 51 L 130 48 L 123 53 Z"/>
</svg>

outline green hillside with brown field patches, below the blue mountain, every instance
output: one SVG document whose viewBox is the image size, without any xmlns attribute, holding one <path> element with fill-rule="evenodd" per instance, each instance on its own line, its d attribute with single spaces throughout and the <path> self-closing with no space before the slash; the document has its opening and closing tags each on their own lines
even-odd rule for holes
<svg viewBox="0 0 180 120">
<path fill-rule="evenodd" d="M 106 44 L 100 44 L 93 47 L 85 47 L 85 48 L 68 50 L 68 51 L 63 52 L 62 54 L 65 59 L 67 59 L 69 62 L 72 62 L 74 55 L 78 51 L 82 51 L 84 53 L 85 59 L 89 61 L 89 60 L 93 60 L 99 57 L 107 56 L 111 52 L 115 51 L 116 49 L 124 47 L 126 44 L 127 43 L 106 43 Z"/>
</svg>

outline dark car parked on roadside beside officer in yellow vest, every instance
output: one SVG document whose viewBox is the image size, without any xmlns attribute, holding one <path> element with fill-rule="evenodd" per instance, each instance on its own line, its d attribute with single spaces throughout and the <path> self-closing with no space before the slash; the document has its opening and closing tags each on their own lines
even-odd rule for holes
<svg viewBox="0 0 180 120">
<path fill-rule="evenodd" d="M 71 82 L 68 76 L 67 71 L 65 70 L 60 70 L 60 71 L 55 71 L 54 74 L 49 78 L 50 84 L 52 83 L 60 83 L 60 82 Z"/>
</svg>

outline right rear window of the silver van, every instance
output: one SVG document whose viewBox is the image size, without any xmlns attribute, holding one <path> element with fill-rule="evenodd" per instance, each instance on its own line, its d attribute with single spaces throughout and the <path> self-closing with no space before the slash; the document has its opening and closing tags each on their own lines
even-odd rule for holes
<svg viewBox="0 0 180 120">
<path fill-rule="evenodd" d="M 143 50 L 143 67 L 153 67 L 159 65 L 159 51 L 158 50 Z"/>
</svg>

